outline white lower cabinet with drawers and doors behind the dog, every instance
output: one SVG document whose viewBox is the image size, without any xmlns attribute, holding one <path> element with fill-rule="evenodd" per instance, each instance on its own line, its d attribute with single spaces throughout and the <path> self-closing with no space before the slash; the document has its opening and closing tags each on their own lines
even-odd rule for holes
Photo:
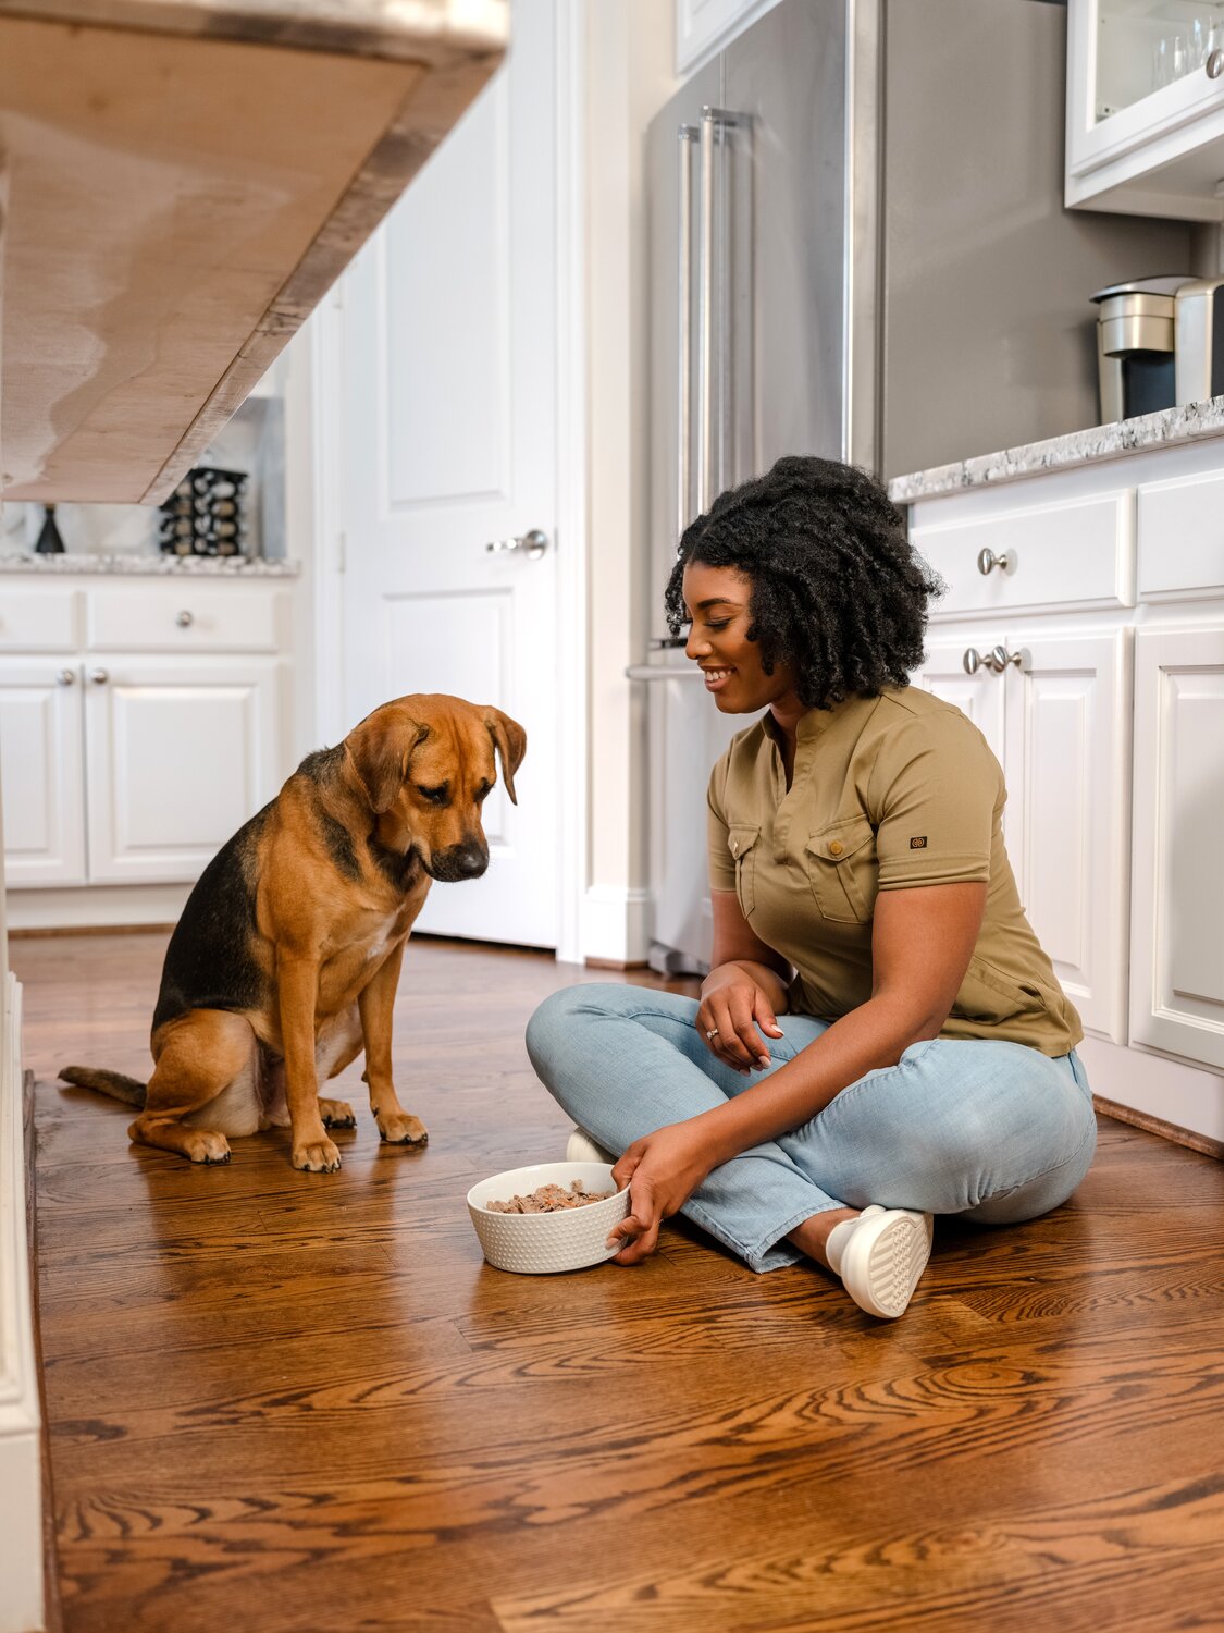
<svg viewBox="0 0 1224 1633">
<path fill-rule="evenodd" d="M 140 923 L 139 890 L 116 887 L 193 883 L 276 794 L 290 769 L 287 599 L 202 575 L 0 580 L 15 923 Z M 144 921 L 178 906 L 147 898 Z"/>
</svg>

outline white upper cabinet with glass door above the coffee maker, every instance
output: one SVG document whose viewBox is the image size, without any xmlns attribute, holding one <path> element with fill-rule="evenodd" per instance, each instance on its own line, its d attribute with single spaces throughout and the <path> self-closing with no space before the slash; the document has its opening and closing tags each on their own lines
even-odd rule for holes
<svg viewBox="0 0 1224 1633">
<path fill-rule="evenodd" d="M 1069 0 L 1066 201 L 1224 220 L 1222 0 Z"/>
</svg>

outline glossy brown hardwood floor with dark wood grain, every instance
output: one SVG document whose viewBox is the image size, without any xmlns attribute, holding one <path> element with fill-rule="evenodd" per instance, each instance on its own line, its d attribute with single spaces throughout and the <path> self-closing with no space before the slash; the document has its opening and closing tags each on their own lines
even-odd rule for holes
<svg viewBox="0 0 1224 1633">
<path fill-rule="evenodd" d="M 419 942 L 419 1153 L 132 1148 L 163 936 L 15 941 L 69 1633 L 1224 1628 L 1224 1166 L 1102 1120 L 1072 1202 L 940 1221 L 893 1324 L 689 1226 L 635 1270 L 483 1264 L 463 1192 L 558 1153 L 542 955 Z M 636 978 L 636 977 L 635 977 Z M 658 985 L 653 983 L 651 985 Z M 1098 1084 L 1108 1094 L 1108 1084 Z"/>
</svg>

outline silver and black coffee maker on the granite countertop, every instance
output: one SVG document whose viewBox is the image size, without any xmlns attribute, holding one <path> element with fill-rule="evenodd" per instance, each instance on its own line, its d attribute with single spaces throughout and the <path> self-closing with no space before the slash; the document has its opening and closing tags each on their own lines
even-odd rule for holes
<svg viewBox="0 0 1224 1633">
<path fill-rule="evenodd" d="M 1102 425 L 1224 394 L 1224 278 L 1136 278 L 1092 299 Z"/>
</svg>

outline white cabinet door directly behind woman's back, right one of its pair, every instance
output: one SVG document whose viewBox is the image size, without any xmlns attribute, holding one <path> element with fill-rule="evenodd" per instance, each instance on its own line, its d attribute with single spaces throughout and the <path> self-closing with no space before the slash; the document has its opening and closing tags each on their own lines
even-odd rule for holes
<svg viewBox="0 0 1224 1633">
<path fill-rule="evenodd" d="M 1007 852 L 1084 1026 L 1126 1042 L 1128 640 L 1027 640 L 1007 673 Z M 1010 647 L 1020 642 L 1009 643 Z"/>
</svg>

